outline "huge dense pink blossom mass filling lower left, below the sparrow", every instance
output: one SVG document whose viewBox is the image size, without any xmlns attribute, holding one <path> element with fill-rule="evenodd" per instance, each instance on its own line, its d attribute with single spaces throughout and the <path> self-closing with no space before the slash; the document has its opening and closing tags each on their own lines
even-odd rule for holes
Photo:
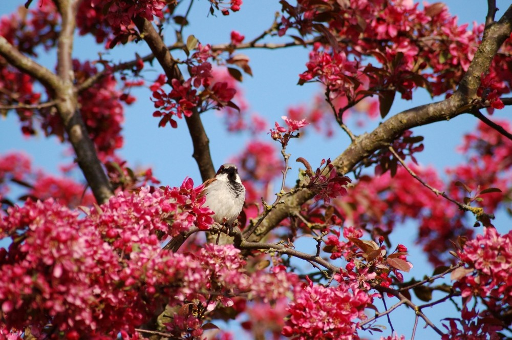
<svg viewBox="0 0 512 340">
<path fill-rule="evenodd" d="M 197 260 L 161 251 L 157 231 L 174 236 L 212 224 L 200 191 L 186 179 L 179 188 L 120 193 L 85 217 L 53 199 L 9 208 L 0 221 L 0 236 L 12 238 L 9 249 L 0 250 L 0 306 L 7 327 L 30 324 L 36 336 L 48 323 L 57 331 L 91 336 L 133 332 L 151 317 L 157 305 L 151 301 L 162 299 L 162 290 L 170 299 L 205 302 L 200 292 L 243 286 L 236 278 L 245 282 L 244 277 L 233 274 L 243 271 L 243 262 L 232 246 L 206 246 Z M 233 288 L 221 289 L 219 282 Z"/>
</svg>

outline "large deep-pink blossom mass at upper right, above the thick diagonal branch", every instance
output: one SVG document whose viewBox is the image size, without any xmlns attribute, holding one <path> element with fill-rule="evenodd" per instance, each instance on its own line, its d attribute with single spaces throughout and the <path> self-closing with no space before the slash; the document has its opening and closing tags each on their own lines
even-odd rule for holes
<svg viewBox="0 0 512 340">
<path fill-rule="evenodd" d="M 331 100 L 346 97 L 351 103 L 380 94 L 389 104 L 395 91 L 412 99 L 418 87 L 432 95 L 450 94 L 483 32 L 483 25 L 472 30 L 459 25 L 440 3 L 420 9 L 410 1 L 355 0 L 348 6 L 334 0 L 299 0 L 296 5 L 284 1 L 283 13 L 280 36 L 293 28 L 303 37 L 312 34 L 324 41 L 315 43 L 300 83 L 319 81 Z M 325 20 L 329 25 L 318 24 Z M 510 51 L 511 45 L 505 43 L 503 50 Z M 484 85 L 482 98 L 491 108 L 499 108 L 498 97 L 510 91 L 510 71 L 498 57 L 491 72 L 496 84 L 490 91 Z"/>
</svg>

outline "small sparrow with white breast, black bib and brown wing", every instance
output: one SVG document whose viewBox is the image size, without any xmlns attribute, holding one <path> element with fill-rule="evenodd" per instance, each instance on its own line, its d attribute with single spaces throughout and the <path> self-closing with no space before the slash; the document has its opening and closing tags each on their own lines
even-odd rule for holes
<svg viewBox="0 0 512 340">
<path fill-rule="evenodd" d="M 222 164 L 215 177 L 203 183 L 200 196 L 206 197 L 204 206 L 214 211 L 214 221 L 231 230 L 245 202 L 245 186 L 237 166 L 232 163 Z M 179 235 L 170 240 L 164 249 L 176 252 L 184 242 L 184 235 Z"/>
</svg>

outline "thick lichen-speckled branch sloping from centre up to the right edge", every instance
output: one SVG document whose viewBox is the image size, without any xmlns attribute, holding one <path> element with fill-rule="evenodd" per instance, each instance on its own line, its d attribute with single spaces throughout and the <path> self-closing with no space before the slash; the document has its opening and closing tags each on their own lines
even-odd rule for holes
<svg viewBox="0 0 512 340">
<path fill-rule="evenodd" d="M 472 99 L 480 85 L 480 75 L 486 72 L 490 62 L 498 52 L 503 41 L 512 32 L 512 6 L 508 8 L 497 23 L 485 29 L 482 43 L 462 78 L 457 91 L 448 99 L 403 111 L 380 124 L 373 132 L 356 138 L 332 164 L 339 174 L 347 174 L 359 162 L 381 148 L 387 148 L 404 131 L 417 126 L 442 120 L 450 120 L 462 113 L 470 113 L 474 107 Z M 301 184 L 299 184 L 301 185 Z M 298 206 L 313 197 L 309 190 L 302 190 L 284 198 L 284 203 L 276 207 L 260 227 L 251 235 L 249 241 L 259 241 L 278 225 L 291 216 Z"/>
</svg>

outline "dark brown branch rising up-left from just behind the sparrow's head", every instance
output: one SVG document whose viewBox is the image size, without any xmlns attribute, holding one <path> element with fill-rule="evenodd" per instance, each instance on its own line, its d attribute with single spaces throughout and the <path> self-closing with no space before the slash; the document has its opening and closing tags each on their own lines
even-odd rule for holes
<svg viewBox="0 0 512 340">
<path fill-rule="evenodd" d="M 144 38 L 147 46 L 150 47 L 151 51 L 162 66 L 165 75 L 167 76 L 167 81 L 170 83 L 172 79 L 178 79 L 180 82 L 183 82 L 183 75 L 178 68 L 178 64 L 173 59 L 168 48 L 165 46 L 162 37 L 153 27 L 153 24 L 141 17 L 137 17 L 134 20 L 140 35 Z M 185 121 L 194 145 L 193 157 L 196 159 L 199 166 L 201 178 L 205 181 L 215 176 L 215 169 L 211 161 L 209 140 L 206 136 L 197 108 L 193 109 L 193 114 L 190 117 L 185 117 Z"/>
</svg>

